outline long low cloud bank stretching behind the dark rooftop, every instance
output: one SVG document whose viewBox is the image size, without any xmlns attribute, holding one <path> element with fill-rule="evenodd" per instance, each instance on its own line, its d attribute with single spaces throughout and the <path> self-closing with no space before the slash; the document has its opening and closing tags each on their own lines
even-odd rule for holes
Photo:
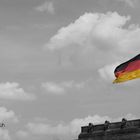
<svg viewBox="0 0 140 140">
<path fill-rule="evenodd" d="M 59 123 L 57 125 L 51 125 L 48 123 L 36 123 L 30 122 L 26 125 L 27 130 L 29 133 L 33 135 L 55 135 L 58 138 L 66 138 L 66 139 L 73 139 L 78 136 L 80 133 L 81 126 L 88 125 L 88 123 L 93 124 L 101 124 L 104 123 L 105 120 L 109 120 L 110 122 L 121 121 L 123 117 L 119 118 L 110 118 L 108 116 L 88 116 L 85 118 L 77 118 L 72 120 L 69 123 Z M 136 117 L 132 114 L 128 114 L 125 116 L 126 119 L 136 119 Z"/>
</svg>

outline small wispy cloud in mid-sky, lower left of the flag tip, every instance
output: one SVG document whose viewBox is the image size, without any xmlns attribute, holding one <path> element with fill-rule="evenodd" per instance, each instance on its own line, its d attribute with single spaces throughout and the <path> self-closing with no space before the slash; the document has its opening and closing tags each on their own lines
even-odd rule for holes
<svg viewBox="0 0 140 140">
<path fill-rule="evenodd" d="M 42 88 L 44 88 L 48 93 L 53 93 L 56 95 L 62 95 L 66 93 L 68 89 L 81 89 L 85 85 L 84 82 L 76 83 L 73 80 L 65 81 L 65 82 L 46 82 L 42 83 Z"/>
</svg>

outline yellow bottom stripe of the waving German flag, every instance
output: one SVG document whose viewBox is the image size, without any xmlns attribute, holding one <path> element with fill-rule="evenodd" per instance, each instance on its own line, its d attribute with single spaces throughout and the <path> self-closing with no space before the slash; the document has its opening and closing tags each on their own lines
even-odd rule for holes
<svg viewBox="0 0 140 140">
<path fill-rule="evenodd" d="M 120 77 L 116 78 L 113 83 L 121 83 L 136 78 L 140 78 L 140 69 L 120 75 Z"/>
</svg>

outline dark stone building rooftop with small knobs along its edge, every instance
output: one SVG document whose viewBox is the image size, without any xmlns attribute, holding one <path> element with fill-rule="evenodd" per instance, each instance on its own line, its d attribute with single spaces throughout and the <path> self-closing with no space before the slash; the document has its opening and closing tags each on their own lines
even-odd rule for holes
<svg viewBox="0 0 140 140">
<path fill-rule="evenodd" d="M 81 127 L 78 140 L 140 140 L 140 119 Z"/>
</svg>

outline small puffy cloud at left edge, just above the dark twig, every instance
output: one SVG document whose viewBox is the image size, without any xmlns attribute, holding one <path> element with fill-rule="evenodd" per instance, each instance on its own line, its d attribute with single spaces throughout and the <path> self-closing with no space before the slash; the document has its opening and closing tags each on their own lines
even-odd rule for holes
<svg viewBox="0 0 140 140">
<path fill-rule="evenodd" d="M 16 116 L 15 112 L 10 110 L 8 111 L 5 107 L 0 107 L 0 121 L 5 122 L 18 122 L 18 117 Z"/>
</svg>

